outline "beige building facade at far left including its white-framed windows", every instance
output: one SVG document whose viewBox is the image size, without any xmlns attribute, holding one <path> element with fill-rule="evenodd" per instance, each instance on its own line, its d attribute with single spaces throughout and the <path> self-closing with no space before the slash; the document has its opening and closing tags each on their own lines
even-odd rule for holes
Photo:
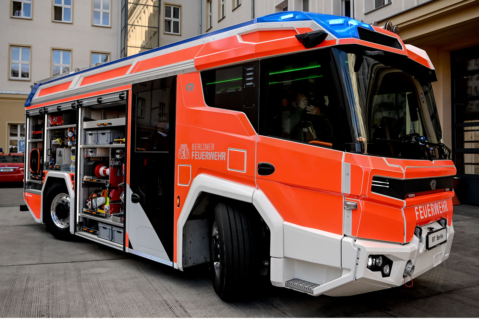
<svg viewBox="0 0 479 319">
<path fill-rule="evenodd" d="M 34 81 L 119 57 L 116 0 L 0 1 L 0 148 L 22 151 Z"/>
</svg>

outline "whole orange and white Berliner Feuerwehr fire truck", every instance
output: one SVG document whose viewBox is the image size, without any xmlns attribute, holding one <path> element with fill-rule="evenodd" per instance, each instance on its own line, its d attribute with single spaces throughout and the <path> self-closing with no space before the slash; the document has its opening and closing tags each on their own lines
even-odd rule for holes
<svg viewBox="0 0 479 319">
<path fill-rule="evenodd" d="M 455 166 L 434 67 L 398 28 L 279 12 L 35 82 L 24 200 L 223 299 L 408 283 L 449 257 Z"/>
</svg>

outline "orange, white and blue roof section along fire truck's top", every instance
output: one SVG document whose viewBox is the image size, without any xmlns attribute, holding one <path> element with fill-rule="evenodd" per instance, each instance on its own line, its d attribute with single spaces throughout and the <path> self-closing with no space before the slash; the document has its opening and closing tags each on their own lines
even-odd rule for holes
<svg viewBox="0 0 479 319">
<path fill-rule="evenodd" d="M 295 35 L 316 30 L 323 30 L 328 36 L 315 48 L 362 44 L 409 56 L 422 66 L 433 69 L 423 50 L 405 45 L 395 33 L 348 17 L 285 11 L 34 82 L 25 107 L 40 107 L 68 95 L 136 83 L 151 76 L 194 72 L 299 52 L 306 48 L 299 44 Z"/>
</svg>

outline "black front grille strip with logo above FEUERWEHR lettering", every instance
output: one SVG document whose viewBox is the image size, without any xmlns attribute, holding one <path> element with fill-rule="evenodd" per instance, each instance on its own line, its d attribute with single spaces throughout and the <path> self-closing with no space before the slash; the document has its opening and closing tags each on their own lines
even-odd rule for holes
<svg viewBox="0 0 479 319">
<path fill-rule="evenodd" d="M 452 190 L 452 183 L 453 176 L 409 179 L 373 176 L 371 191 L 389 197 L 405 199 Z"/>
</svg>

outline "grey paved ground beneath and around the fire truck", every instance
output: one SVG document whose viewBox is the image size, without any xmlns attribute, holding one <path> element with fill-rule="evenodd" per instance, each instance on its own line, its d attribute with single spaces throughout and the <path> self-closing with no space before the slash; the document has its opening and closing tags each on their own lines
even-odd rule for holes
<svg viewBox="0 0 479 319">
<path fill-rule="evenodd" d="M 225 303 L 205 268 L 178 271 L 88 241 L 62 242 L 0 185 L 0 317 L 478 317 L 479 208 L 455 206 L 451 256 L 413 286 L 354 297 L 285 288 Z M 9 206 L 5 206 L 9 205 Z"/>
</svg>

